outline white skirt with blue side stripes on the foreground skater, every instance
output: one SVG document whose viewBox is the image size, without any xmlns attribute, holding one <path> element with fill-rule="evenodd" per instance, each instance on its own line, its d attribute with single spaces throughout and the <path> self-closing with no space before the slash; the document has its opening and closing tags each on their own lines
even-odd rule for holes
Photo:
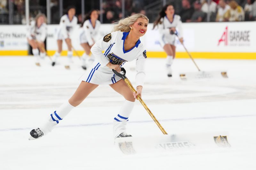
<svg viewBox="0 0 256 170">
<path fill-rule="evenodd" d="M 114 73 L 101 72 L 98 69 L 102 67 L 100 63 L 94 62 L 84 75 L 79 78 L 80 81 L 85 81 L 88 83 L 96 85 L 111 85 L 118 82 L 121 78 L 116 76 Z"/>
</svg>

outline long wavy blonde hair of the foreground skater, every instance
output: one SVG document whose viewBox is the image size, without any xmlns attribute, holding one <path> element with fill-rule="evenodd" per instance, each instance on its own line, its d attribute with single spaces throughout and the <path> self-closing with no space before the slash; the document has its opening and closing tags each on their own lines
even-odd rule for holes
<svg viewBox="0 0 256 170">
<path fill-rule="evenodd" d="M 131 30 L 130 25 L 134 24 L 138 18 L 144 18 L 147 19 L 148 17 L 143 14 L 134 14 L 130 17 L 120 19 L 119 21 L 115 22 L 116 24 L 112 30 L 112 32 L 115 31 L 122 31 L 122 32 L 129 32 Z"/>
</svg>

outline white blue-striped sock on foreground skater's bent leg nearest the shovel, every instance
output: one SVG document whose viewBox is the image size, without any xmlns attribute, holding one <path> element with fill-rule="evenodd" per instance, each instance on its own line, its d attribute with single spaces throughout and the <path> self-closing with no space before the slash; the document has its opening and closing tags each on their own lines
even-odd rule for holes
<svg viewBox="0 0 256 170">
<path fill-rule="evenodd" d="M 126 122 L 132 112 L 134 107 L 134 103 L 132 101 L 125 100 L 123 106 L 120 109 L 119 114 L 114 118 L 113 123 L 113 135 L 116 138 L 120 133 L 126 132 Z"/>
</svg>

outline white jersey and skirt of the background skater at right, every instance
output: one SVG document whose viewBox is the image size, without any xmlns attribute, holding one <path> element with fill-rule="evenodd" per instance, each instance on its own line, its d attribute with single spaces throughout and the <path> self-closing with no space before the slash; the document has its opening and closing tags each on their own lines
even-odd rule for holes
<svg viewBox="0 0 256 170">
<path fill-rule="evenodd" d="M 181 19 L 179 15 L 173 15 L 173 21 L 170 22 L 169 19 L 164 16 L 161 18 L 161 24 L 159 26 L 159 33 L 160 33 L 160 45 L 164 47 L 165 44 L 171 44 L 176 46 L 175 43 L 175 34 L 171 34 L 169 28 L 175 27 L 176 31 L 178 32 L 178 37 L 183 37 L 182 27 L 181 27 Z"/>
</svg>

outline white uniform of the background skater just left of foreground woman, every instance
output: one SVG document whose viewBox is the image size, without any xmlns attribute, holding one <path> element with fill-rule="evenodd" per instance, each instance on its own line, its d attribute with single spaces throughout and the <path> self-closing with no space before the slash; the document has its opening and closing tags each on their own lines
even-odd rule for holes
<svg viewBox="0 0 256 170">
<path fill-rule="evenodd" d="M 88 44 L 92 46 L 97 41 L 99 29 L 99 20 L 96 20 L 95 27 L 92 26 L 91 19 L 84 21 L 84 25 L 79 36 L 80 44 L 88 42 Z"/>
</svg>

